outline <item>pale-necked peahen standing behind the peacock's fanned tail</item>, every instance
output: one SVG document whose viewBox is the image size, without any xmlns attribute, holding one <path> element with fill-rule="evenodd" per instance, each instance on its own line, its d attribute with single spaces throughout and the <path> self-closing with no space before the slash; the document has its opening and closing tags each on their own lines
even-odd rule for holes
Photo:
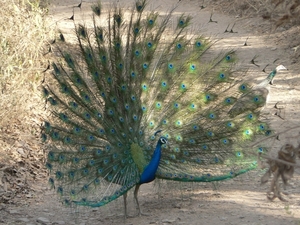
<svg viewBox="0 0 300 225">
<path fill-rule="evenodd" d="M 242 89 L 249 89 L 250 91 L 244 93 L 233 105 L 229 111 L 230 117 L 239 115 L 247 110 L 261 111 L 268 102 L 270 85 L 273 85 L 275 75 L 281 70 L 286 70 L 286 68 L 283 65 L 277 66 L 265 79 L 252 88 L 248 87 L 249 83 L 242 84 L 240 86 Z"/>
</svg>

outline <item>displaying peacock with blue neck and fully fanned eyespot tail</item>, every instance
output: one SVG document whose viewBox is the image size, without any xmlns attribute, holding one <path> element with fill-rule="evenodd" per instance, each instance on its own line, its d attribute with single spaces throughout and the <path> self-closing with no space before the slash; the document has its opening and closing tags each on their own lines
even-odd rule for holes
<svg viewBox="0 0 300 225">
<path fill-rule="evenodd" d="M 56 42 L 42 139 L 49 184 L 66 206 L 101 207 L 123 196 L 127 216 L 135 187 L 141 215 L 140 185 L 231 179 L 256 168 L 267 150 L 247 147 L 271 133 L 256 110 L 260 94 L 229 113 L 251 92 L 236 52 L 216 53 L 212 40 L 191 34 L 190 16 L 172 16 L 175 7 L 160 15 L 146 5 L 114 5 L 102 19 L 98 2 L 93 24 L 75 25 L 76 44 Z"/>
</svg>

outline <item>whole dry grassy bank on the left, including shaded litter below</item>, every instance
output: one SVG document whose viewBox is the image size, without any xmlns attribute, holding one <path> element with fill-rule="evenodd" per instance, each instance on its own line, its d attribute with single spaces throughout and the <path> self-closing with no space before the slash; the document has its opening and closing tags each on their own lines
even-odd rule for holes
<svg viewBox="0 0 300 225">
<path fill-rule="evenodd" d="M 47 25 L 47 0 L 0 1 L 0 202 L 33 196 L 43 176 L 39 85 L 48 61 L 44 49 L 54 31 Z M 25 199 L 25 200 L 24 200 Z"/>
</svg>

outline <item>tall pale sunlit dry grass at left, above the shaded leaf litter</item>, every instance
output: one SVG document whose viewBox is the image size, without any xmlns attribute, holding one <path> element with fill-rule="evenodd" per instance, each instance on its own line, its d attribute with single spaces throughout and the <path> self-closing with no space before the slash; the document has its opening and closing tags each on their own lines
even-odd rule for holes
<svg viewBox="0 0 300 225">
<path fill-rule="evenodd" d="M 0 2 L 0 163 L 13 160 L 17 141 L 38 135 L 43 105 L 38 86 L 48 63 L 44 46 L 51 38 L 46 14 L 38 0 Z"/>
</svg>

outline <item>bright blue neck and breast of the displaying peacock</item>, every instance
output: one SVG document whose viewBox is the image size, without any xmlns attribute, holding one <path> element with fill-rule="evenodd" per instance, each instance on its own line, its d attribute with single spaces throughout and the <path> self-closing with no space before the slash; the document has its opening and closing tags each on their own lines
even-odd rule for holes
<svg viewBox="0 0 300 225">
<path fill-rule="evenodd" d="M 140 183 L 149 183 L 155 179 L 155 173 L 157 171 L 159 161 L 161 158 L 161 146 L 162 143 L 160 141 L 157 142 L 156 148 L 153 152 L 150 163 L 145 167 L 141 178 Z"/>
</svg>

